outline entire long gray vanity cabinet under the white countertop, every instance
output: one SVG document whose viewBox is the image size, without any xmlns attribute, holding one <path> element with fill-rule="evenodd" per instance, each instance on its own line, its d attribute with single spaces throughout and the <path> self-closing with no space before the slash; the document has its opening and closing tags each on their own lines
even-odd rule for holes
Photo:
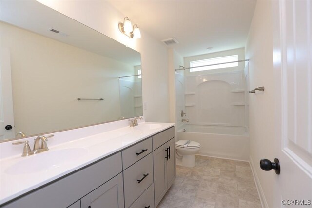
<svg viewBox="0 0 312 208">
<path fill-rule="evenodd" d="M 175 147 L 172 127 L 1 207 L 155 208 L 176 177 Z"/>
</svg>

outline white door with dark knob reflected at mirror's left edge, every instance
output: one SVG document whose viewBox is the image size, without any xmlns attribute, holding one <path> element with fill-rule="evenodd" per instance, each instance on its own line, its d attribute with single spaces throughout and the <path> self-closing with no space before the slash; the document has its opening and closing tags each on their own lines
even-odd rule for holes
<svg viewBox="0 0 312 208">
<path fill-rule="evenodd" d="M 8 49 L 1 48 L 0 60 L 0 140 L 14 138 L 11 62 Z M 10 129 L 10 126 L 12 129 Z"/>
</svg>

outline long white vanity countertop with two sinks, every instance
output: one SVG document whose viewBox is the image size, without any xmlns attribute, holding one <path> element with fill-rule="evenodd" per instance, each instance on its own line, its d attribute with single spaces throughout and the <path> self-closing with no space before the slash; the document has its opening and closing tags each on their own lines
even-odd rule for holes
<svg viewBox="0 0 312 208">
<path fill-rule="evenodd" d="M 137 127 L 122 127 L 83 138 L 78 137 L 79 139 L 71 141 L 64 139 L 66 141 L 64 143 L 55 142 L 56 145 L 48 145 L 49 151 L 26 157 L 21 157 L 22 148 L 20 148 L 19 154 L 0 160 L 0 204 L 174 125 L 173 123 L 141 122 Z M 57 138 L 51 140 L 53 139 Z"/>
</svg>

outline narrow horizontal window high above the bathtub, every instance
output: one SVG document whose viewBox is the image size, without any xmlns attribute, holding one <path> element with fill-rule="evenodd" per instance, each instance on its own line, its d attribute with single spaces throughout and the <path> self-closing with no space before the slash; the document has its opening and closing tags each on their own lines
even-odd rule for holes
<svg viewBox="0 0 312 208">
<path fill-rule="evenodd" d="M 204 67 L 192 68 L 192 69 L 190 69 L 190 72 L 198 72 L 198 71 L 204 71 L 204 70 L 221 69 L 221 68 L 238 66 L 238 62 L 226 63 L 226 62 L 231 62 L 231 61 L 238 61 L 238 55 L 209 58 L 209 59 L 199 60 L 199 61 L 191 61 L 190 67 L 197 67 L 197 66 L 204 66 Z M 214 65 L 214 66 L 205 66 L 205 65 L 216 64 L 216 63 L 226 63 L 226 64 L 219 64 L 219 65 Z"/>
</svg>

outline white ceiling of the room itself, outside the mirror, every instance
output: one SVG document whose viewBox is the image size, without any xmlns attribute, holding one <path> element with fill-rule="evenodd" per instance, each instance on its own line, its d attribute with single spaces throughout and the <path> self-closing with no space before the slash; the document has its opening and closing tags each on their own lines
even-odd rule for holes
<svg viewBox="0 0 312 208">
<path fill-rule="evenodd" d="M 245 46 L 255 0 L 110 0 L 141 30 L 183 57 Z M 208 50 L 208 47 L 213 47 Z"/>
</svg>

